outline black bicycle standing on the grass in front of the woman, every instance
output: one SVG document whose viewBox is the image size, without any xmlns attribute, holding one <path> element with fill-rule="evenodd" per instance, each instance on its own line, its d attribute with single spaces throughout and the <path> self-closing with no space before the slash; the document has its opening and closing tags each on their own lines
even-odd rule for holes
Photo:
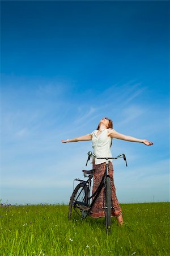
<svg viewBox="0 0 170 256">
<path fill-rule="evenodd" d="M 93 177 L 93 173 L 95 169 L 90 171 L 83 170 L 84 177 L 88 177 L 87 180 L 75 179 L 74 181 L 80 181 L 80 183 L 74 188 L 73 194 L 70 197 L 69 203 L 69 215 L 68 218 L 71 218 L 71 214 L 77 213 L 82 219 L 86 218 L 88 214 L 91 213 L 91 209 L 101 192 L 101 189 L 104 188 L 104 197 L 103 197 L 103 209 L 105 213 L 105 230 L 107 233 L 111 232 L 111 210 L 114 209 L 114 205 L 112 202 L 112 191 L 111 191 L 111 178 L 109 176 L 109 160 L 110 159 L 118 159 L 124 158 L 126 162 L 125 154 L 120 154 L 114 158 L 98 158 L 95 154 L 91 151 L 88 153 L 87 163 L 90 158 L 97 158 L 97 159 L 105 159 L 106 160 L 106 167 L 104 175 L 100 181 L 99 187 L 96 191 L 91 195 L 91 180 Z M 86 163 L 86 166 L 87 166 Z M 126 162 L 127 166 L 127 162 Z M 74 213 L 72 211 L 74 209 Z"/>
</svg>

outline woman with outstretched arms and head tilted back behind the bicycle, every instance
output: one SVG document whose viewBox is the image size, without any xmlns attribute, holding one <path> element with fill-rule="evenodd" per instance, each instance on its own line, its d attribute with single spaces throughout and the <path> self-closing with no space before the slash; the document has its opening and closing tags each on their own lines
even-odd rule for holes
<svg viewBox="0 0 170 256">
<path fill-rule="evenodd" d="M 104 117 L 101 119 L 99 125 L 97 126 L 97 130 L 93 131 L 91 134 L 87 134 L 81 137 L 76 137 L 73 139 L 67 139 L 66 141 L 62 140 L 62 143 L 92 141 L 92 147 L 94 148 L 95 155 L 97 155 L 98 157 L 104 157 L 104 156 L 112 157 L 112 153 L 111 153 L 112 138 L 122 139 L 124 141 L 130 141 L 130 142 L 140 142 L 140 143 L 146 144 L 147 146 L 154 144 L 152 142 L 147 141 L 146 139 L 137 139 L 121 133 L 117 133 L 117 131 L 113 129 L 112 120 L 107 117 Z M 93 184 L 92 190 L 93 192 L 95 192 L 97 187 L 100 184 L 101 177 L 103 177 L 105 172 L 105 160 L 95 159 L 93 162 L 93 168 L 95 169 L 95 172 L 94 172 L 94 184 Z M 116 189 L 114 187 L 112 161 L 109 161 L 109 175 L 111 177 L 112 201 L 114 205 L 114 209 L 112 210 L 112 216 L 117 217 L 118 224 L 122 225 L 124 221 L 122 218 L 122 210 L 117 200 Z M 97 198 L 94 206 L 92 207 L 91 217 L 94 217 L 94 218 L 104 217 L 103 189 L 101 190 L 99 197 Z"/>
</svg>

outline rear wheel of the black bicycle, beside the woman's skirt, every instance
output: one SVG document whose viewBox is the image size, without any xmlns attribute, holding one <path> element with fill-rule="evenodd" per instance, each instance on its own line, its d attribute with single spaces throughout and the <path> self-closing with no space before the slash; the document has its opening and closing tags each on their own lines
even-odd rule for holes
<svg viewBox="0 0 170 256">
<path fill-rule="evenodd" d="M 70 197 L 70 203 L 69 203 L 69 214 L 68 218 L 71 218 L 71 214 L 73 215 L 72 209 L 74 208 L 75 217 L 77 215 L 82 216 L 82 209 L 76 207 L 75 202 L 78 201 L 79 203 L 85 203 L 87 204 L 88 201 L 88 189 L 87 185 L 84 185 L 83 183 L 79 183 L 74 191 L 73 194 Z"/>
</svg>

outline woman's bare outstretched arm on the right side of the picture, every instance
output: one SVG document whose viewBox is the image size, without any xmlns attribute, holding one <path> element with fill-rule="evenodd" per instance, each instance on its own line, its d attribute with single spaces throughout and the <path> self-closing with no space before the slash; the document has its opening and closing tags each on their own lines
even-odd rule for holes
<svg viewBox="0 0 170 256">
<path fill-rule="evenodd" d="M 111 132 L 109 131 L 108 136 L 110 136 L 111 138 L 122 139 L 123 141 L 141 142 L 141 143 L 146 144 L 147 146 L 154 144 L 153 142 L 147 141 L 147 139 L 137 139 L 137 138 L 134 138 L 131 136 L 117 133 L 117 131 L 115 131 L 115 130 L 113 130 Z"/>
</svg>

